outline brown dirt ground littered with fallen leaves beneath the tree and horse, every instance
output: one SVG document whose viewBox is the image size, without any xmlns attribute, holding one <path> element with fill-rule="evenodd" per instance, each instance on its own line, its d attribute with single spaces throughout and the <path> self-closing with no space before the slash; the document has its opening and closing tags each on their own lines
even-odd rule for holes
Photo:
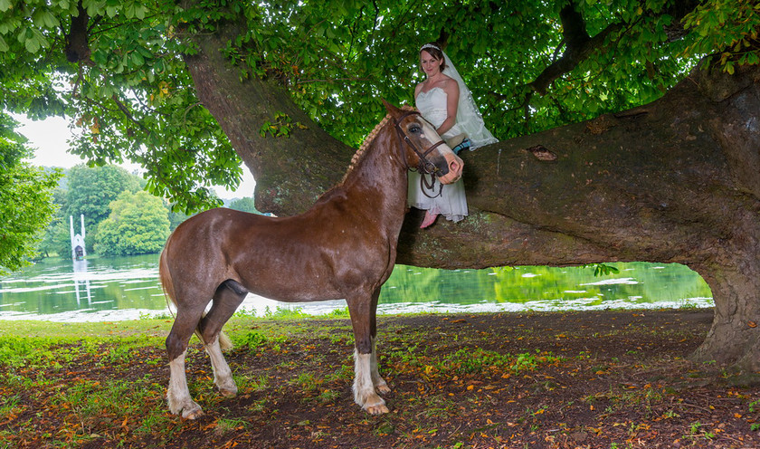
<svg viewBox="0 0 760 449">
<path fill-rule="evenodd" d="M 12 435 L 9 447 L 758 448 L 758 373 L 686 359 L 712 313 L 380 317 L 381 372 L 393 389 L 384 416 L 353 403 L 348 320 L 235 320 L 228 360 L 238 396 L 215 392 L 196 340 L 188 352 L 191 393 L 205 412 L 196 421 L 166 412 L 168 368 L 153 345 L 129 349 L 124 363 L 107 368 L 82 356 L 45 373 L 59 393 L 114 379 L 149 385 L 141 408 L 73 413 L 65 401 L 29 393 L 0 429 Z M 80 436 L 34 436 L 67 426 Z"/>
</svg>

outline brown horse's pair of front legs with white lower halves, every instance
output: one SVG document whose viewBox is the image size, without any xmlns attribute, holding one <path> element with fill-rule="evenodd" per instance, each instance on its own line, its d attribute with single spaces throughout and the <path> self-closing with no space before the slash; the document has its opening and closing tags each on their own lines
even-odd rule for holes
<svg viewBox="0 0 760 449">
<path fill-rule="evenodd" d="M 387 390 L 385 380 L 377 373 L 377 359 L 373 330 L 375 330 L 375 312 L 372 295 L 357 295 L 347 298 L 351 325 L 354 328 L 356 349 L 354 350 L 354 401 L 371 415 L 388 413 L 385 400 L 377 395 L 375 381 L 382 382 L 381 391 Z"/>
</svg>

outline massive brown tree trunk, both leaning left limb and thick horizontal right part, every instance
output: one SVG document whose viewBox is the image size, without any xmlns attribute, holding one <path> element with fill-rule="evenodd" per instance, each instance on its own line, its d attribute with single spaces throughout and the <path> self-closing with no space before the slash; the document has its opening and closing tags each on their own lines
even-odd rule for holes
<svg viewBox="0 0 760 449">
<path fill-rule="evenodd" d="M 218 52 L 234 33 L 195 36 L 200 53 L 187 64 L 198 96 L 256 178 L 257 208 L 298 213 L 342 177 L 353 150 L 318 129 L 276 82 L 241 81 Z M 308 129 L 262 138 L 276 112 Z M 537 146 L 556 160 L 537 158 Z M 420 230 L 413 211 L 399 263 L 683 263 L 708 281 L 716 302 L 694 358 L 760 370 L 760 68 L 733 76 L 698 69 L 636 110 L 463 159 L 470 216 Z"/>
</svg>

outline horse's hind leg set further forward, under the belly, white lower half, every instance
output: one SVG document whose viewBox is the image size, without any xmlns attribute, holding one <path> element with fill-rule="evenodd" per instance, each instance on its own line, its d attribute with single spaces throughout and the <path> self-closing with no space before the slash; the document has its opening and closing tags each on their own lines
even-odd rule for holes
<svg viewBox="0 0 760 449">
<path fill-rule="evenodd" d="M 226 339 L 222 327 L 233 316 L 247 293 L 238 282 L 224 282 L 214 293 L 214 305 L 198 327 L 205 350 L 211 358 L 211 366 L 214 368 L 214 384 L 219 388 L 219 392 L 227 397 L 237 394 L 237 386 L 233 372 L 222 354 L 224 345 L 221 340 Z"/>
</svg>

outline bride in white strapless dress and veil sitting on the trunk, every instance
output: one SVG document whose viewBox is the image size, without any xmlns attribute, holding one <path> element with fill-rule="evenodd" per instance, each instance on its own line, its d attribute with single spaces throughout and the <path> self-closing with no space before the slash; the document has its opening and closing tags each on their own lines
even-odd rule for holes
<svg viewBox="0 0 760 449">
<path fill-rule="evenodd" d="M 486 129 L 470 90 L 441 47 L 425 43 L 420 49 L 420 65 L 427 78 L 414 88 L 414 103 L 454 152 L 498 142 Z M 452 222 L 467 216 L 461 180 L 442 186 L 438 196 L 437 189 L 425 189 L 419 173 L 410 172 L 408 201 L 410 206 L 425 210 L 421 228 L 433 224 L 438 215 Z"/>
</svg>

